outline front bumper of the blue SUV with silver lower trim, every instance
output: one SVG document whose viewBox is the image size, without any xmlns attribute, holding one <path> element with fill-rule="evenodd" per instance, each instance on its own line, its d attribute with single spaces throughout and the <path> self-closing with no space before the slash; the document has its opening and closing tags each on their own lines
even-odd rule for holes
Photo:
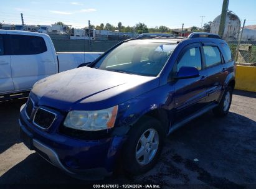
<svg viewBox="0 0 256 189">
<path fill-rule="evenodd" d="M 21 138 L 31 150 L 64 172 L 83 179 L 111 175 L 125 141 L 123 136 L 85 141 L 56 133 L 47 133 L 34 126 L 21 109 Z"/>
</svg>

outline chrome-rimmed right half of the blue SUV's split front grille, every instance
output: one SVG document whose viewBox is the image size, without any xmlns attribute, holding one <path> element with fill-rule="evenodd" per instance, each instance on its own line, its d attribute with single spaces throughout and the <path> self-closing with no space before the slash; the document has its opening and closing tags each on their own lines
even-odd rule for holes
<svg viewBox="0 0 256 189">
<path fill-rule="evenodd" d="M 46 109 L 38 108 L 34 116 L 34 124 L 42 129 L 48 129 L 54 122 L 55 117 L 56 114 Z"/>
</svg>

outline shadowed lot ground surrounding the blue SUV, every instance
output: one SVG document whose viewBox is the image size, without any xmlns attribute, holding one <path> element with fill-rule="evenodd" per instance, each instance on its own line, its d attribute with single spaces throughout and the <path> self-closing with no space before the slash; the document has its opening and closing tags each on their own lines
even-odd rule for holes
<svg viewBox="0 0 256 189">
<path fill-rule="evenodd" d="M 90 183 L 65 175 L 21 143 L 17 119 L 25 102 L 18 99 L 0 103 L 0 188 L 10 184 Z M 235 91 L 227 117 L 216 119 L 209 112 L 171 134 L 158 164 L 145 175 L 118 173 L 96 183 L 256 188 L 256 93 Z"/>
</svg>

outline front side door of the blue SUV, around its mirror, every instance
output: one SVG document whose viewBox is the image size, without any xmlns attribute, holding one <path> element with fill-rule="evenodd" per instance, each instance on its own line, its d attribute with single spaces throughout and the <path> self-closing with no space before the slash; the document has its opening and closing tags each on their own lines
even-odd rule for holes
<svg viewBox="0 0 256 189">
<path fill-rule="evenodd" d="M 186 45 L 181 52 L 179 52 L 179 58 L 183 57 L 183 54 L 190 49 L 197 48 L 197 57 L 200 58 L 198 60 L 191 61 L 191 66 L 194 63 L 199 62 L 202 67 L 202 56 L 201 56 L 201 43 L 192 43 Z M 179 59 L 178 58 L 178 59 Z M 201 60 L 201 62 L 200 62 Z M 176 60 L 175 66 L 178 64 Z M 173 80 L 171 82 L 175 88 L 175 116 L 173 122 L 179 122 L 186 118 L 187 116 L 199 111 L 200 109 L 206 106 L 206 98 L 207 98 L 207 71 L 202 69 L 199 70 L 200 75 L 196 78 L 185 78 L 179 80 Z M 175 74 L 175 73 L 174 73 Z"/>
</svg>

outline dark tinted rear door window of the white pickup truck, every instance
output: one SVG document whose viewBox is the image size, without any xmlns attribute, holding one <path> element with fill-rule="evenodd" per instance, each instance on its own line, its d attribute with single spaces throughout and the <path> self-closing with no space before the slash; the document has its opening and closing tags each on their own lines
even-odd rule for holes
<svg viewBox="0 0 256 189">
<path fill-rule="evenodd" d="M 44 39 L 32 35 L 11 35 L 12 55 L 36 55 L 47 51 Z"/>
</svg>

